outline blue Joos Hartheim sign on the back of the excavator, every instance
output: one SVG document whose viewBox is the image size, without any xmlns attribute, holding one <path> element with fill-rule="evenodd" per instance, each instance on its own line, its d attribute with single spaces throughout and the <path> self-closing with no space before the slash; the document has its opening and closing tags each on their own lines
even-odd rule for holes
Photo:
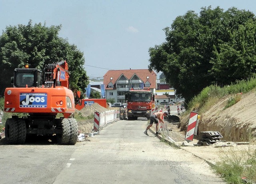
<svg viewBox="0 0 256 184">
<path fill-rule="evenodd" d="M 20 108 L 46 108 L 46 93 L 20 93 Z"/>
</svg>

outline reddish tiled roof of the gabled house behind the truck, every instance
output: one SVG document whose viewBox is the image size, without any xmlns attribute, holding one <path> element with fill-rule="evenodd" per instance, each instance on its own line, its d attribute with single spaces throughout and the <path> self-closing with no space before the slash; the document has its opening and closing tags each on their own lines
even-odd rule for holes
<svg viewBox="0 0 256 184">
<path fill-rule="evenodd" d="M 103 76 L 103 83 L 105 84 L 105 89 L 112 89 L 112 88 L 108 88 L 108 84 L 110 82 L 115 84 L 118 78 L 122 74 L 128 80 L 130 80 L 134 76 L 134 74 L 136 74 L 144 83 L 146 81 L 150 82 L 150 87 L 149 87 L 150 89 L 156 88 L 156 73 L 154 71 L 150 72 L 148 69 L 138 69 L 138 70 L 108 70 L 108 72 L 106 72 L 106 74 Z M 149 79 L 147 79 L 147 76 L 149 76 Z M 112 77 L 113 79 L 110 80 L 110 77 Z M 144 89 L 145 88 L 146 87 L 144 87 Z"/>
</svg>

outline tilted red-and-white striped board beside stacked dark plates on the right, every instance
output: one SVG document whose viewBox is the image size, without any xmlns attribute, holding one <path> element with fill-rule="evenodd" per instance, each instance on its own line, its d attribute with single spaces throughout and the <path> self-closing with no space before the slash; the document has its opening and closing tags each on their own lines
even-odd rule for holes
<svg viewBox="0 0 256 184">
<path fill-rule="evenodd" d="M 189 121 L 188 121 L 188 128 L 187 128 L 186 136 L 185 136 L 185 140 L 187 142 L 191 142 L 194 139 L 197 117 L 198 117 L 198 113 L 190 112 L 190 117 L 189 117 Z"/>
</svg>

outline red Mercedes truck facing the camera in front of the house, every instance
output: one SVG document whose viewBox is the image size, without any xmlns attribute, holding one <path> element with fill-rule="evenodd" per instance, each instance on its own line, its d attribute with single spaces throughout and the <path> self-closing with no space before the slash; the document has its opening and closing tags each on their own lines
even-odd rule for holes
<svg viewBox="0 0 256 184">
<path fill-rule="evenodd" d="M 154 106 L 154 95 L 150 90 L 129 90 L 125 95 L 127 102 L 128 120 L 137 120 L 138 117 L 149 118 L 152 106 Z"/>
</svg>

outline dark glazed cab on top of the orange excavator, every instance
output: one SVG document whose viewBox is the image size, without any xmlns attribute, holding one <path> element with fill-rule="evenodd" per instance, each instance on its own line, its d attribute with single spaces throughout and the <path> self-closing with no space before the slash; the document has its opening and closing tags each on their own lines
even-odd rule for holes
<svg viewBox="0 0 256 184">
<path fill-rule="evenodd" d="M 42 72 L 36 68 L 15 68 L 11 83 L 16 88 L 42 86 Z"/>
</svg>

